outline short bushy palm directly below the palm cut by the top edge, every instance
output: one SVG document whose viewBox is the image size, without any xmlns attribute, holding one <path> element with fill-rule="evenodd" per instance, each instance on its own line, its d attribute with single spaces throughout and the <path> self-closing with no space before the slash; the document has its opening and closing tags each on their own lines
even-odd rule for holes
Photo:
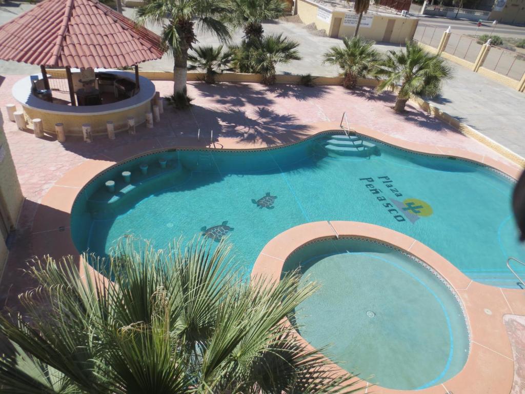
<svg viewBox="0 0 525 394">
<path fill-rule="evenodd" d="M 246 40 L 239 47 L 234 47 L 234 65 L 244 72 L 262 75 L 266 85 L 275 84 L 275 66 L 301 60 L 297 47 L 299 43 L 281 34 L 263 36 L 257 43 L 248 44 Z"/>
</svg>

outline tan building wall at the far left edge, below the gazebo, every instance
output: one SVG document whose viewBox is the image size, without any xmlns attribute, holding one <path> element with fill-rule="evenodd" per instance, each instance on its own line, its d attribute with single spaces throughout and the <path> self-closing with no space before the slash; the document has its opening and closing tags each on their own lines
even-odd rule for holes
<svg viewBox="0 0 525 394">
<path fill-rule="evenodd" d="M 22 203 L 24 202 L 24 197 L 22 195 L 22 189 L 20 189 L 15 163 L 13 162 L 13 157 L 9 150 L 2 125 L 3 119 L 0 114 L 0 145 L 2 145 L 4 150 L 4 159 L 0 163 L 0 204 L 2 204 L 7 211 L 10 222 L 8 224 L 14 228 L 18 220 L 20 208 L 22 208 Z M 30 153 L 28 152 L 28 154 Z"/>
</svg>

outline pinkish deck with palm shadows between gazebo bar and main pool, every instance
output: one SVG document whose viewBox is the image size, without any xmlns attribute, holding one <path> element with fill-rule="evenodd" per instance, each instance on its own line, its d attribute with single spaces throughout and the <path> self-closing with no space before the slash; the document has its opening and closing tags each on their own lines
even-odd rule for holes
<svg viewBox="0 0 525 394">
<path fill-rule="evenodd" d="M 9 258 L 0 284 L 0 302 L 15 309 L 18 306 L 16 295 L 33 286 L 20 272 L 26 267 L 28 258 L 70 254 L 75 256 L 74 261 L 78 264 L 79 256 L 71 240 L 69 222 L 72 204 L 81 188 L 100 171 L 144 152 L 177 147 L 277 147 L 298 142 L 320 131 L 338 129 L 342 113 L 346 111 L 351 129 L 365 136 L 407 150 L 485 163 L 513 178 L 517 178 L 521 171 L 518 165 L 497 152 L 415 107 L 409 106 L 408 112 L 403 115 L 395 113 L 391 109 L 394 97 L 389 93 L 376 96 L 370 89 L 351 92 L 338 86 L 307 88 L 279 85 L 267 88 L 258 84 L 208 86 L 195 82 L 188 85 L 188 94 L 195 98 L 191 111 L 177 112 L 165 106 L 161 121 L 153 129 L 139 126 L 137 134 L 119 133 L 116 140 L 96 137 L 92 143 L 85 143 L 78 138 L 68 138 L 65 143 L 59 143 L 51 136 L 35 138 L 31 130 L 20 131 L 7 119 L 5 105 L 14 102 L 10 89 L 21 77 L 0 79 L 4 130 L 26 197 L 16 237 L 10 242 Z M 170 94 L 173 82 L 155 81 L 155 86 L 164 96 Z M 201 139 L 197 140 L 199 129 Z M 437 259 L 437 254 L 432 254 Z M 432 265 L 425 258 L 422 260 Z M 473 394 L 503 393 L 502 388 L 506 388 L 508 393 L 512 386 L 509 371 L 514 363 L 502 315 L 525 315 L 523 294 L 476 282 L 458 287 L 466 307 L 471 305 L 477 310 L 472 318 L 469 315 L 474 340 L 471 357 L 475 356 L 477 360 L 474 364 L 468 364 L 471 366 L 470 373 L 480 377 L 491 375 L 497 387 L 482 388 L 481 382 L 486 381 L 480 378 L 480 383 L 472 386 L 477 390 L 471 390 L 456 377 L 449 381 L 454 384 L 446 388 L 455 393 Z M 485 308 L 490 309 L 492 315 L 485 314 Z M 496 320 L 499 323 L 493 323 Z M 494 354 L 501 358 L 501 362 L 493 366 L 485 365 L 485 361 L 494 359 Z M 522 364 L 525 364 L 522 359 L 517 358 L 516 368 L 525 369 Z M 425 394 L 443 394 L 443 387 L 440 386 L 427 390 Z"/>
</svg>

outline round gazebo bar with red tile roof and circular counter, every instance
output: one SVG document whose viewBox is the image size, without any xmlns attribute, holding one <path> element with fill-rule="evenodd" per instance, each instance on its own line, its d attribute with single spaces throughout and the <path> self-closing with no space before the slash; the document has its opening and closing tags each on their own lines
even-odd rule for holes
<svg viewBox="0 0 525 394">
<path fill-rule="evenodd" d="M 122 123 L 125 119 L 119 118 L 119 112 L 129 116 L 130 108 L 151 100 L 155 94 L 151 81 L 139 76 L 139 63 L 160 57 L 158 35 L 98 0 L 45 0 L 0 26 L 0 59 L 40 66 L 41 76 L 18 81 L 13 95 L 28 117 L 44 120 L 45 129 L 45 114 L 35 112 L 63 112 L 66 118 L 110 113 L 111 120 Z M 129 78 L 129 72 L 115 70 L 128 67 L 134 67 L 134 79 Z M 51 97 L 46 68 L 65 69 L 69 102 Z M 103 89 L 108 92 L 106 101 Z M 109 100 L 113 91 L 115 97 Z M 71 108 L 77 105 L 77 109 Z M 98 119 L 99 123 L 102 120 Z M 67 128 L 80 130 L 72 124 Z M 53 125 L 48 124 L 47 129 L 53 129 Z"/>
</svg>

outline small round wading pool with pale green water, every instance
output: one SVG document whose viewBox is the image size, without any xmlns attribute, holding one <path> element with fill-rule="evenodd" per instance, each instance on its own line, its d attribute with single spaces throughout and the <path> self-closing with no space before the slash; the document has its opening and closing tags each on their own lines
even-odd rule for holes
<svg viewBox="0 0 525 394">
<path fill-rule="evenodd" d="M 301 336 L 328 345 L 337 364 L 382 387 L 438 385 L 465 365 L 469 335 L 458 297 L 425 263 L 357 238 L 309 243 L 283 274 L 300 270 L 319 291 L 296 310 Z"/>
</svg>

